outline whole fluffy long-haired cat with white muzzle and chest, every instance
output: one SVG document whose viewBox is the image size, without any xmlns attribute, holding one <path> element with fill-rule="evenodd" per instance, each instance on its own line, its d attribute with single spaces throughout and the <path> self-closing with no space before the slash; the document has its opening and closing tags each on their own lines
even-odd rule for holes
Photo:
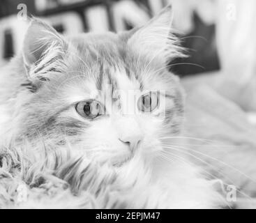
<svg viewBox="0 0 256 223">
<path fill-rule="evenodd" d="M 130 208 L 225 206 L 198 167 L 182 154 L 185 164 L 167 155 L 166 145 L 181 134 L 185 103 L 166 66 L 183 55 L 171 20 L 167 6 L 131 31 L 64 37 L 33 18 L 22 52 L 1 70 L 1 144 L 27 141 L 37 160 L 42 144 L 69 146 L 114 171 L 121 188 L 133 185 Z"/>
</svg>

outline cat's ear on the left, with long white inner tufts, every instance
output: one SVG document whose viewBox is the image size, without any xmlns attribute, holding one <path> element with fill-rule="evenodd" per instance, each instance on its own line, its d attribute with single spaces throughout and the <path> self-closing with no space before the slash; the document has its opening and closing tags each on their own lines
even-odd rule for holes
<svg viewBox="0 0 256 223">
<path fill-rule="evenodd" d="M 33 18 L 22 47 L 28 79 L 45 81 L 53 72 L 59 72 L 66 49 L 66 41 L 52 26 Z"/>
</svg>

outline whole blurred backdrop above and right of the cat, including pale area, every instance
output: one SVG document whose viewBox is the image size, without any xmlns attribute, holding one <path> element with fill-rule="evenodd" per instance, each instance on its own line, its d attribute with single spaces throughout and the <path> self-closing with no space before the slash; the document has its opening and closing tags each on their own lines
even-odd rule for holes
<svg viewBox="0 0 256 223">
<path fill-rule="evenodd" d="M 65 35 L 123 31 L 144 24 L 170 3 L 174 29 L 190 55 L 170 62 L 170 69 L 188 92 L 198 83 L 211 86 L 255 122 L 254 0 L 1 0 L 0 68 L 20 50 L 27 16 L 43 18 Z"/>
</svg>

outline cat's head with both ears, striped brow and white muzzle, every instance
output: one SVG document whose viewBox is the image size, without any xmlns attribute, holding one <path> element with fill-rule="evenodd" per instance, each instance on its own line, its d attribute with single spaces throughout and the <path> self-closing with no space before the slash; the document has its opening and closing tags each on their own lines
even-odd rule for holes
<svg viewBox="0 0 256 223">
<path fill-rule="evenodd" d="M 33 20 L 13 118 L 18 136 L 111 164 L 157 154 L 183 119 L 181 86 L 166 67 L 180 54 L 171 17 L 167 7 L 139 29 L 75 38 Z"/>
</svg>

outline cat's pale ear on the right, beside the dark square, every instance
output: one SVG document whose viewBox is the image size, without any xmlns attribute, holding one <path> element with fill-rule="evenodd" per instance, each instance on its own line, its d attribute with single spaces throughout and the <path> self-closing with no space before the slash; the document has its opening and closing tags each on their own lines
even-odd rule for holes
<svg viewBox="0 0 256 223">
<path fill-rule="evenodd" d="M 172 6 L 165 7 L 144 26 L 130 31 L 128 45 L 140 55 L 158 58 L 161 61 L 182 56 L 179 41 L 172 31 Z"/>
</svg>

